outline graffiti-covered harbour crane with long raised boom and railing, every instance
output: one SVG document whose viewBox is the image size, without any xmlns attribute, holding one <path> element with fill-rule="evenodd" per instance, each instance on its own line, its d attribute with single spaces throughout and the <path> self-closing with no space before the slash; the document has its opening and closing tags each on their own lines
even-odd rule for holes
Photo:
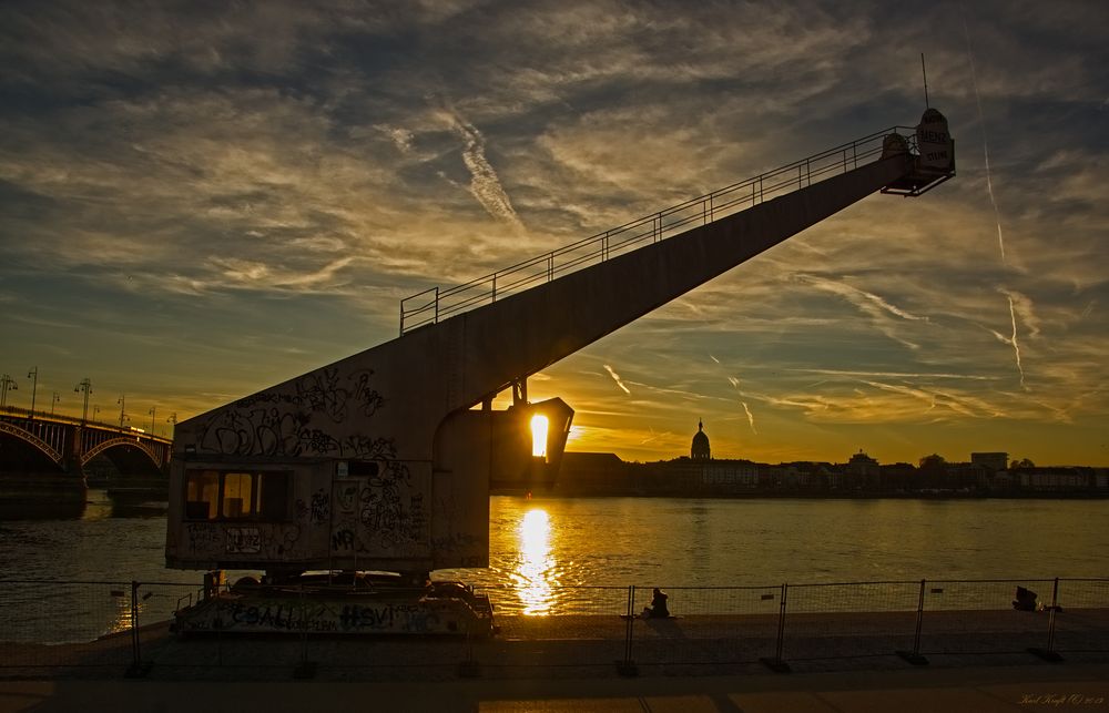
<svg viewBox="0 0 1109 713">
<path fill-rule="evenodd" d="M 954 175 L 928 109 L 904 133 L 409 297 L 397 338 L 177 424 L 166 567 L 207 572 L 177 631 L 491 632 L 488 599 L 430 573 L 488 567 L 490 488 L 554 482 L 573 410 L 530 401 L 530 376 L 867 195 Z M 228 589 L 225 569 L 265 574 Z"/>
</svg>

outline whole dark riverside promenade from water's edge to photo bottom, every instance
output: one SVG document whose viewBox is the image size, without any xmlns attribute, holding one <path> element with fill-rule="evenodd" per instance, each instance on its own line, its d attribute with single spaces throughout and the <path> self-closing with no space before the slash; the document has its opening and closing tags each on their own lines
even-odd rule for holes
<svg viewBox="0 0 1109 713">
<path fill-rule="evenodd" d="M 87 644 L 0 644 L 0 713 L 151 711 L 634 711 L 678 713 L 847 711 L 1109 713 L 1109 612 L 1068 610 L 1056 627 L 1065 660 L 1027 648 L 1047 642 L 1042 612 L 934 612 L 912 645 L 909 612 L 795 615 L 772 673 L 772 617 L 634 621 L 619 617 L 505 618 L 487 640 L 306 640 L 297 635 L 169 635 L 140 629 L 141 678 L 122 632 Z M 620 662 L 627 654 L 638 675 Z M 309 662 L 307 672 L 298 664 Z M 298 680 L 306 674 L 307 679 Z"/>
</svg>

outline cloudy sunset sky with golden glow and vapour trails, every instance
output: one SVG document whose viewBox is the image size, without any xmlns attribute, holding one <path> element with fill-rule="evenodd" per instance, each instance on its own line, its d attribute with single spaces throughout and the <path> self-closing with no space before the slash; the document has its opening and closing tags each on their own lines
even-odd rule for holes
<svg viewBox="0 0 1109 713">
<path fill-rule="evenodd" d="M 8 405 L 179 420 L 399 299 L 896 124 L 874 195 L 563 359 L 569 448 L 1109 466 L 1109 3 L 0 4 Z M 58 400 L 54 401 L 57 394 Z M 151 414 L 151 409 L 154 410 Z"/>
</svg>

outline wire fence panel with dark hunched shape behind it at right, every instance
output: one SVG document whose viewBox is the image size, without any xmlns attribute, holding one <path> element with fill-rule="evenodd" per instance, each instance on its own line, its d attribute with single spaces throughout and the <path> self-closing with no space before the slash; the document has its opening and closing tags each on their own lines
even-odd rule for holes
<svg viewBox="0 0 1109 713">
<path fill-rule="evenodd" d="M 924 654 L 1014 653 L 1044 649 L 1050 612 L 1016 608 L 1017 588 L 1051 604 L 1055 580 L 928 581 L 924 594 Z"/>
</svg>

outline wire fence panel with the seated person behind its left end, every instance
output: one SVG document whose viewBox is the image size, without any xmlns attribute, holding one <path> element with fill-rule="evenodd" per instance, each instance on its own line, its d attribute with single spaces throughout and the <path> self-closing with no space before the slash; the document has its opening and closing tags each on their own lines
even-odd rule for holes
<svg viewBox="0 0 1109 713">
<path fill-rule="evenodd" d="M 664 588 L 671 618 L 644 615 L 653 588 L 637 587 L 631 658 L 635 665 L 756 663 L 774 653 L 781 585 Z"/>
</svg>

